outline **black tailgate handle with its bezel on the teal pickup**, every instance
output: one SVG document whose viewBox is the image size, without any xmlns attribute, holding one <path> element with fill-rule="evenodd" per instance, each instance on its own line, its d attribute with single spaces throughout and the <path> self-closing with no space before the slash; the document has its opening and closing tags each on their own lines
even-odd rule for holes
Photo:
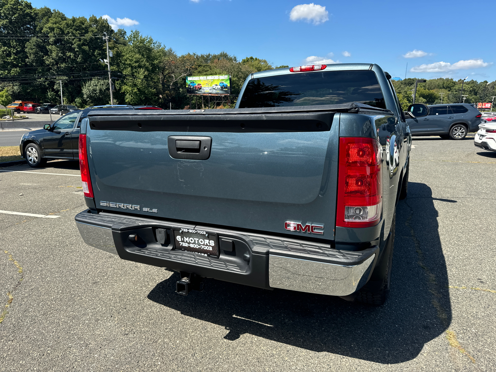
<svg viewBox="0 0 496 372">
<path fill-rule="evenodd" d="M 167 137 L 169 155 L 174 159 L 206 160 L 210 157 L 212 138 L 198 135 Z"/>
</svg>

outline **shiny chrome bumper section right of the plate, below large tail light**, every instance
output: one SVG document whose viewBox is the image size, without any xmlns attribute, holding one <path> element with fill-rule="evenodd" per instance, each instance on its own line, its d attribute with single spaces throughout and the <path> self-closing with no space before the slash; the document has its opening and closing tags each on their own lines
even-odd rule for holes
<svg viewBox="0 0 496 372">
<path fill-rule="evenodd" d="M 372 254 L 355 266 L 269 255 L 269 285 L 273 288 L 347 296 L 367 283 L 372 270 Z"/>
</svg>

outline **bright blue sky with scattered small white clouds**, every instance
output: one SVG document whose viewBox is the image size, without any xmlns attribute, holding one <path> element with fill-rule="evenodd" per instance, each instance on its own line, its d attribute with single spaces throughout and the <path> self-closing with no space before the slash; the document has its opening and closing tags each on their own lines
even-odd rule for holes
<svg viewBox="0 0 496 372">
<path fill-rule="evenodd" d="M 496 80 L 496 1 L 35 0 L 108 16 L 178 54 L 225 51 L 272 65 L 377 63 L 393 77 Z M 118 19 L 119 18 L 119 19 Z"/>
</svg>

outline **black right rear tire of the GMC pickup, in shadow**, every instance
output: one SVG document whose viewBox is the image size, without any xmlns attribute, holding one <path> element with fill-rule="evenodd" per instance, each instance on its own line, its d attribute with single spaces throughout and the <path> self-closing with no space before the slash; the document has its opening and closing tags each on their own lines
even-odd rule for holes
<svg viewBox="0 0 496 372">
<path fill-rule="evenodd" d="M 382 261 L 375 266 L 369 283 L 356 293 L 355 301 L 374 306 L 380 306 L 386 301 L 391 285 L 395 226 L 396 212 L 391 223 L 391 234 L 384 247 Z"/>
</svg>

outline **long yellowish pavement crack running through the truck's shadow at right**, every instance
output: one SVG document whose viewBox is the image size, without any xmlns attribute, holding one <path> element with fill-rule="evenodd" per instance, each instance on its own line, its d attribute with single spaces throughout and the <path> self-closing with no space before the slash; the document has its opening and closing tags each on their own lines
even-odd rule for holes
<svg viewBox="0 0 496 372">
<path fill-rule="evenodd" d="M 410 204 L 408 204 L 408 202 L 406 200 L 405 200 L 405 204 L 410 209 L 410 212 L 411 212 L 410 216 L 408 216 L 408 218 L 405 221 L 405 225 L 407 228 L 410 229 L 410 238 L 412 238 L 413 243 L 415 245 L 415 250 L 417 251 L 417 257 L 418 257 L 417 263 L 419 264 L 420 267 L 422 267 L 422 269 L 424 270 L 424 272 L 427 275 L 429 292 L 431 292 L 431 294 L 432 294 L 431 303 L 434 306 L 434 309 L 436 310 L 437 317 L 441 321 L 443 327 L 446 329 L 446 331 L 445 331 L 446 339 L 448 340 L 448 343 L 450 346 L 457 349 L 460 353 L 466 355 L 470 359 L 470 361 L 475 364 L 476 363 L 475 359 L 464 348 L 462 348 L 462 346 L 458 342 L 458 340 L 456 338 L 456 333 L 454 331 L 448 329 L 449 324 L 448 324 L 448 316 L 446 314 L 446 310 L 442 307 L 442 305 L 438 301 L 438 299 L 441 298 L 441 295 L 437 291 L 438 284 L 436 281 L 436 277 L 424 262 L 424 252 L 420 248 L 420 246 L 421 246 L 420 241 L 417 238 L 417 236 L 415 235 L 415 230 L 413 229 L 413 227 L 411 225 L 412 216 L 413 216 L 413 208 L 410 206 Z M 449 286 L 449 287 L 451 287 L 451 286 Z"/>
</svg>

